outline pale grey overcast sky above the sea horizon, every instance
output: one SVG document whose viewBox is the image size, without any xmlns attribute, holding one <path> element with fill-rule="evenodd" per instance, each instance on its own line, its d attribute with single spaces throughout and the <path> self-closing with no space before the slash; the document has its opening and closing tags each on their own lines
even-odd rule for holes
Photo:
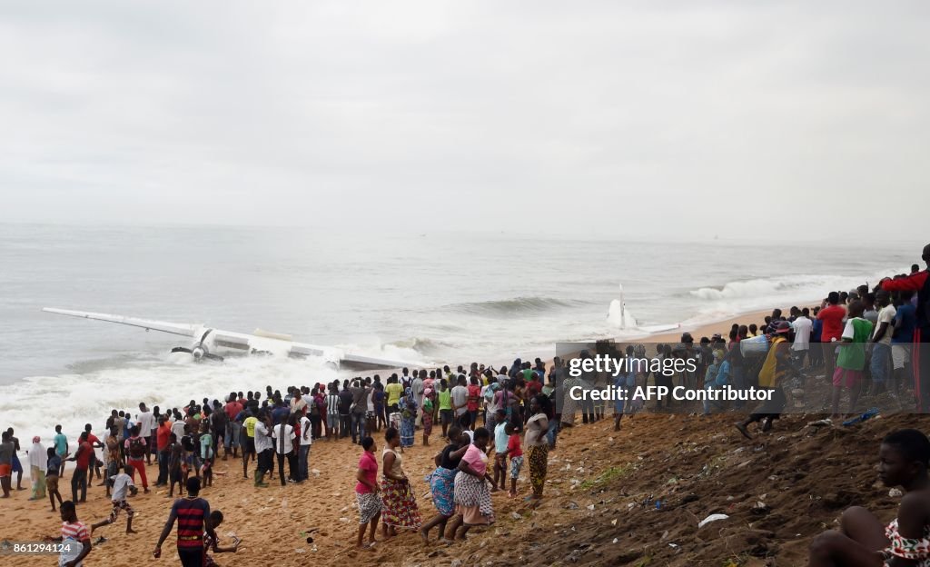
<svg viewBox="0 0 930 567">
<path fill-rule="evenodd" d="M 5 2 L 0 221 L 923 242 L 928 24 L 923 0 Z"/>
</svg>

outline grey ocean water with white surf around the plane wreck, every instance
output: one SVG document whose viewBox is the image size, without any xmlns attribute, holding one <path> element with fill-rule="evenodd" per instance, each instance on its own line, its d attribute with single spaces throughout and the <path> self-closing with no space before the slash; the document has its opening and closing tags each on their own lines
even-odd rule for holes
<svg viewBox="0 0 930 567">
<path fill-rule="evenodd" d="M 313 359 L 197 364 L 169 353 L 180 337 L 45 306 L 260 328 L 430 367 L 500 365 L 560 341 L 642 335 L 607 318 L 620 285 L 639 325 L 686 327 L 877 281 L 920 248 L 0 224 L 0 425 L 47 441 L 56 423 L 75 436 L 140 401 L 164 410 L 346 375 Z"/>
</svg>

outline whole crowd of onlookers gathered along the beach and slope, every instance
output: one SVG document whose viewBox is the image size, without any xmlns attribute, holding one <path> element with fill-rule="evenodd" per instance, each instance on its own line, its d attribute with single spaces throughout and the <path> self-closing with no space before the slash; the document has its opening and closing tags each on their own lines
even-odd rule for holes
<svg viewBox="0 0 930 567">
<path fill-rule="evenodd" d="M 923 250 L 923 260 L 930 263 L 930 246 Z M 677 375 L 679 384 L 687 388 L 771 390 L 772 396 L 737 423 L 738 431 L 751 439 L 751 424 L 761 423 L 765 431 L 784 410 L 784 386 L 789 380 L 795 380 L 795 385 L 812 385 L 817 380 L 829 385 L 834 415 L 839 414 L 844 390 L 848 392 L 849 412 L 856 412 L 864 395 L 898 400 L 912 397 L 916 411 L 930 411 L 930 354 L 925 352 L 930 338 L 928 316 L 930 279 L 926 270 L 915 269 L 910 275 L 885 278 L 873 288 L 831 291 L 814 308 L 791 307 L 787 315 L 777 309 L 760 325 L 734 325 L 727 338 L 713 335 L 696 343 L 684 333 L 677 344 L 658 344 L 654 357 L 697 356 L 697 371 Z M 741 344 L 758 342 L 761 337 L 764 354 L 753 362 Z M 644 354 L 643 347 L 636 344 L 608 347 L 621 358 Z M 582 352 L 579 356 L 591 355 Z M 818 378 L 820 375 L 823 378 Z M 62 541 L 74 543 L 73 555 L 63 557 L 62 564 L 80 565 L 90 551 L 90 534 L 112 524 L 120 513 L 126 514 L 126 533 L 135 533 L 134 509 L 127 499 L 137 493 L 137 473 L 142 492 L 150 492 L 146 466 L 155 463 L 158 472 L 153 486 L 165 487 L 172 498 L 177 487 L 179 499 L 171 508 L 154 555 L 161 553 L 161 545 L 177 523 L 181 563 L 213 564 L 207 551 L 235 552 L 239 543 L 236 540 L 232 546 L 219 546 L 215 528 L 223 520 L 222 514 L 211 511 L 199 497 L 201 487 L 211 486 L 214 475 L 219 476 L 214 472 L 216 460 L 241 461 L 243 478 L 249 479 L 251 473 L 257 490 L 268 487 L 266 479 L 274 481 L 275 473 L 282 486 L 300 485 L 309 479 L 312 443 L 326 439 L 360 446 L 354 487 L 358 547 L 376 544 L 379 523 L 384 538 L 399 531 L 415 531 L 429 544 L 436 529 L 437 540 L 449 544 L 464 539 L 472 527 L 493 523 L 494 499 L 490 494 L 507 491 L 516 497 L 524 464 L 530 485 L 526 500 L 542 498 L 549 452 L 556 447 L 560 429 L 577 425 L 578 412 L 582 424 L 589 424 L 604 419 L 612 410 L 615 428 L 619 428 L 624 415 L 643 409 L 643 403 L 622 398 L 608 408 L 605 402 L 578 400 L 569 394 L 574 385 L 585 385 L 586 381 L 596 385 L 603 379 L 573 377 L 560 358 L 548 367 L 539 358 L 533 362 L 517 358 L 510 368 L 472 363 L 467 369 L 459 366 L 454 371 L 448 366 L 403 369 L 383 381 L 375 374 L 341 383 L 291 385 L 284 394 L 269 385 L 264 392 L 230 392 L 222 401 L 192 399 L 165 412 L 140 403 L 135 414 L 114 409 L 106 418 L 102 439 L 94 435 L 91 424 L 75 442 L 61 425 L 55 427 L 47 448 L 40 437 L 34 437 L 27 450 L 30 499 L 47 497 L 52 510 L 58 506 Z M 655 385 L 671 385 L 676 377 L 653 372 L 651 379 Z M 649 371 L 628 369 L 614 376 L 612 385 L 630 388 L 649 380 Z M 724 410 L 708 401 L 702 405 L 703 412 Z M 738 400 L 727 409 L 748 411 Z M 417 492 L 405 472 L 404 455 L 405 449 L 417 444 L 418 433 L 419 443 L 430 446 L 436 425 L 441 428 L 443 444 L 434 457 L 435 469 L 426 479 L 435 514 L 426 514 L 431 518 L 424 522 Z M 24 489 L 18 454 L 22 448 L 14 433 L 7 429 L 0 441 L 4 497 L 13 491 L 14 475 L 16 489 Z M 919 493 L 911 500 L 923 503 L 928 452 L 923 445 L 926 438 L 917 434 L 885 439 L 883 463 L 903 467 L 888 473 L 887 478 Z M 380 464 L 379 442 L 384 447 Z M 74 464 L 70 500 L 64 500 L 59 490 L 66 462 Z M 77 520 L 77 509 L 86 502 L 88 484 L 95 479 L 110 498 L 112 511 L 87 529 Z M 871 520 L 863 520 L 857 516 L 859 512 L 850 514 L 844 537 L 857 539 L 855 526 L 871 525 Z M 902 518 L 895 529 L 900 530 L 901 538 L 926 543 L 930 541 L 928 526 L 930 522 L 925 519 L 909 517 L 907 521 Z M 841 553 L 836 549 L 844 540 L 830 537 L 833 539 L 817 540 L 818 565 L 838 564 L 830 563 L 829 558 Z M 892 535 L 887 537 L 897 541 Z M 923 550 L 921 557 L 926 560 L 927 547 Z"/>
</svg>

